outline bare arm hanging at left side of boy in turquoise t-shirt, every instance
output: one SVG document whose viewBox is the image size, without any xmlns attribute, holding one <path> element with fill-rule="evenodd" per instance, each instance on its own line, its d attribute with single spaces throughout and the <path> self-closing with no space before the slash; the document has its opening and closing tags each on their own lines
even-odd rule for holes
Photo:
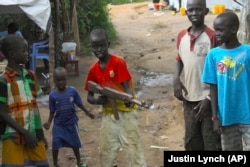
<svg viewBox="0 0 250 167">
<path fill-rule="evenodd" d="M 222 132 L 221 122 L 218 118 L 218 95 L 217 95 L 217 85 L 210 84 L 210 96 L 211 96 L 211 107 L 212 107 L 212 120 L 214 130 L 219 134 Z"/>
</svg>

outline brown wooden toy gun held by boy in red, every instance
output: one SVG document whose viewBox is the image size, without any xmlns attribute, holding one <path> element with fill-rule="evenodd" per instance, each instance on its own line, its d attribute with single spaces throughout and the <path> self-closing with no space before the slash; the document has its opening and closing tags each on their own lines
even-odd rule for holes
<svg viewBox="0 0 250 167">
<path fill-rule="evenodd" d="M 147 107 L 145 102 L 134 99 L 134 97 L 128 93 L 120 92 L 109 87 L 101 87 L 99 84 L 93 81 L 88 81 L 88 89 L 93 93 L 101 94 L 108 97 L 111 102 L 113 114 L 116 120 L 119 120 L 119 115 L 117 113 L 115 100 L 128 101 L 132 104 Z"/>
</svg>

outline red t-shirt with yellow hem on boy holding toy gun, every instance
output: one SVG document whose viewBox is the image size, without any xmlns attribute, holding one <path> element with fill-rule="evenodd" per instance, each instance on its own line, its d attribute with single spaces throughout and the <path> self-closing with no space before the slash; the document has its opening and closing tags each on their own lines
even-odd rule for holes
<svg viewBox="0 0 250 167">
<path fill-rule="evenodd" d="M 132 92 L 134 92 L 132 76 L 128 70 L 126 61 L 122 57 L 114 54 L 110 55 L 109 61 L 104 69 L 100 68 L 99 61 L 91 65 L 84 86 L 85 90 L 88 90 L 88 81 L 93 81 L 100 86 L 106 86 L 122 92 L 125 92 L 122 83 L 124 81 L 129 81 L 130 88 Z M 131 111 L 130 108 L 124 105 L 123 101 L 116 100 L 116 104 L 118 110 Z M 105 105 L 104 108 L 107 112 L 112 112 L 110 103 Z"/>
</svg>

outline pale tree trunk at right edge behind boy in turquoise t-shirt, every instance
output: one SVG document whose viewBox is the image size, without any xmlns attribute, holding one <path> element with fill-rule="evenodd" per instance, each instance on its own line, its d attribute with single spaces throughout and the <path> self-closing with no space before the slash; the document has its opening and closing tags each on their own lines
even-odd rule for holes
<svg viewBox="0 0 250 167">
<path fill-rule="evenodd" d="M 242 0 L 242 4 L 238 37 L 240 42 L 250 44 L 250 1 Z"/>
</svg>

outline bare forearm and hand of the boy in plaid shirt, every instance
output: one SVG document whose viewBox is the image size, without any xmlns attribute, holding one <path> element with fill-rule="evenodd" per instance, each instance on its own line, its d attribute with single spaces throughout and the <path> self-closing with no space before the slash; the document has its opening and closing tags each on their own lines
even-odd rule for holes
<svg viewBox="0 0 250 167">
<path fill-rule="evenodd" d="M 6 103 L 0 102 L 0 118 L 10 127 L 19 132 L 25 140 L 25 146 L 34 149 L 37 147 L 38 140 L 29 131 L 20 126 L 14 119 L 12 119 L 6 112 Z"/>
</svg>

